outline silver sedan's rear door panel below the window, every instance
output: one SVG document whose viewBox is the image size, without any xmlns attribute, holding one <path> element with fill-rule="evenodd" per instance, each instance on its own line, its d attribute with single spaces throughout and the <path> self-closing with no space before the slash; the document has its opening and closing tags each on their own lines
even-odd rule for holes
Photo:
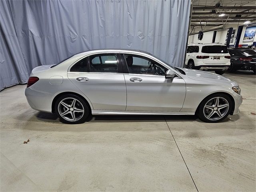
<svg viewBox="0 0 256 192">
<path fill-rule="evenodd" d="M 68 72 L 70 81 L 98 110 L 125 110 L 126 85 L 122 73 Z"/>
</svg>

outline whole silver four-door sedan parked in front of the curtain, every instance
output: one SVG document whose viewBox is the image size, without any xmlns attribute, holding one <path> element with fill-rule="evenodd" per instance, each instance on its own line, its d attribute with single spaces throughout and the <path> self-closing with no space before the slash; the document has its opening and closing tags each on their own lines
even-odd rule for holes
<svg viewBox="0 0 256 192">
<path fill-rule="evenodd" d="M 25 95 L 30 106 L 55 112 L 65 123 L 88 115 L 194 115 L 219 122 L 238 114 L 234 81 L 210 72 L 169 66 L 150 53 L 91 50 L 32 70 Z"/>
</svg>

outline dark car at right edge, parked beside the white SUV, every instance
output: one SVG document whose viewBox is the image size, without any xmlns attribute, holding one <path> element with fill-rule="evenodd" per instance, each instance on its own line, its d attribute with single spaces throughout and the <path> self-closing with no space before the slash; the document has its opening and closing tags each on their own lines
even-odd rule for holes
<svg viewBox="0 0 256 192">
<path fill-rule="evenodd" d="M 235 72 L 236 70 L 252 70 L 254 74 L 256 73 L 255 50 L 249 48 L 229 48 L 228 52 L 231 56 L 228 72 Z"/>
</svg>

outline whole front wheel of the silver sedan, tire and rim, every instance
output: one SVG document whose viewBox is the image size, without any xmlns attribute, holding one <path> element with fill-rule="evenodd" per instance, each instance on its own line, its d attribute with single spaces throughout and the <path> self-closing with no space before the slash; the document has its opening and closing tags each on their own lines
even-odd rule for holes
<svg viewBox="0 0 256 192">
<path fill-rule="evenodd" d="M 200 120 L 217 123 L 224 120 L 232 110 L 232 100 L 225 94 L 213 94 L 205 98 L 198 108 Z"/>
</svg>

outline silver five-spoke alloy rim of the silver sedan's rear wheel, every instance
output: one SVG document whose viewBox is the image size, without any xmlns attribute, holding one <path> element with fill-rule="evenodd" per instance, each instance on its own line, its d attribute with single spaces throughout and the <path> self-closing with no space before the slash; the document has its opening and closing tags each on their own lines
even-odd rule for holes
<svg viewBox="0 0 256 192">
<path fill-rule="evenodd" d="M 84 106 L 75 98 L 64 98 L 58 104 L 58 112 L 67 121 L 78 121 L 84 115 Z"/>
</svg>

